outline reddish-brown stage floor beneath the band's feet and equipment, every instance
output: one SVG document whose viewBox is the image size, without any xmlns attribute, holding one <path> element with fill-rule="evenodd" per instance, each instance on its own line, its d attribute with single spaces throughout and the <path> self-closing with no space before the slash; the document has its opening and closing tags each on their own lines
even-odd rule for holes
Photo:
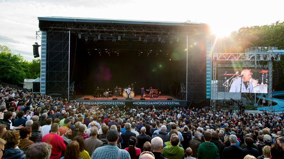
<svg viewBox="0 0 284 159">
<path fill-rule="evenodd" d="M 112 98 L 117 98 L 117 100 L 125 100 L 127 97 L 104 97 L 104 98 L 94 98 L 92 95 L 82 95 L 82 96 L 77 96 L 73 100 L 84 100 L 85 98 L 90 98 L 90 100 L 112 100 Z M 132 100 L 140 100 L 141 96 L 135 96 L 135 97 L 130 97 Z M 168 100 L 168 98 L 172 98 L 172 100 L 180 100 L 177 98 L 174 98 L 172 96 L 166 96 L 166 95 L 161 95 L 160 98 L 150 98 L 150 97 L 145 97 L 145 100 Z"/>
</svg>

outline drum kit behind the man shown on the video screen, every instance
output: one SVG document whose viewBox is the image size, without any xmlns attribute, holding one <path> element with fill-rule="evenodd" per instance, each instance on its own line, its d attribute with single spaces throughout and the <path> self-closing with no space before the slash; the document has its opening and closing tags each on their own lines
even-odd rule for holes
<svg viewBox="0 0 284 159">
<path fill-rule="evenodd" d="M 261 70 L 258 73 L 262 74 L 261 79 L 250 78 L 250 82 L 254 87 L 254 93 L 267 93 L 268 70 Z M 239 74 L 239 71 L 237 71 L 235 74 L 227 74 L 227 71 L 225 71 L 222 76 L 224 76 L 225 79 L 225 83 L 223 83 L 223 86 L 225 87 L 225 92 L 229 92 L 231 84 L 235 80 L 241 78 L 241 74 Z M 231 77 L 228 78 L 228 76 Z"/>
</svg>

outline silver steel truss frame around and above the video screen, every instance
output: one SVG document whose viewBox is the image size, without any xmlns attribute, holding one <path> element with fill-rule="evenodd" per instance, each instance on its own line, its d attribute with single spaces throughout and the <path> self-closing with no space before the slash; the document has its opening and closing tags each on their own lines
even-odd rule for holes
<svg viewBox="0 0 284 159">
<path fill-rule="evenodd" d="M 245 53 L 217 53 L 214 50 L 213 53 L 213 89 L 212 89 L 212 99 L 211 107 L 213 110 L 216 108 L 216 73 L 218 67 L 245 67 L 245 68 L 268 68 L 268 111 L 272 111 L 272 62 L 280 61 L 281 52 L 277 47 L 252 47 L 245 49 Z M 241 61 L 245 64 L 223 64 L 219 65 L 218 61 Z M 263 65 L 261 63 L 266 63 Z"/>
</svg>

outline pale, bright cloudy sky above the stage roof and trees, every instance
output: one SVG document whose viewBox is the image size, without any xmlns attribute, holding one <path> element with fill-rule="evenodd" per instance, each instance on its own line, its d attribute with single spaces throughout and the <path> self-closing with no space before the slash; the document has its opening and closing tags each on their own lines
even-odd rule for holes
<svg viewBox="0 0 284 159">
<path fill-rule="evenodd" d="M 35 32 L 41 16 L 191 20 L 209 24 L 213 34 L 224 37 L 241 27 L 282 22 L 283 5 L 280 0 L 0 0 L 0 44 L 31 61 L 32 45 L 40 44 Z"/>
</svg>

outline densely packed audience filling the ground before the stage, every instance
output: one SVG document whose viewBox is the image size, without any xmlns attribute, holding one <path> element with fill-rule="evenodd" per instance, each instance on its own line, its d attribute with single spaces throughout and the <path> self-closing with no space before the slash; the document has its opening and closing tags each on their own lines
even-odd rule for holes
<svg viewBox="0 0 284 159">
<path fill-rule="evenodd" d="M 283 114 L 84 105 L 0 85 L 0 159 L 283 159 Z"/>
</svg>

